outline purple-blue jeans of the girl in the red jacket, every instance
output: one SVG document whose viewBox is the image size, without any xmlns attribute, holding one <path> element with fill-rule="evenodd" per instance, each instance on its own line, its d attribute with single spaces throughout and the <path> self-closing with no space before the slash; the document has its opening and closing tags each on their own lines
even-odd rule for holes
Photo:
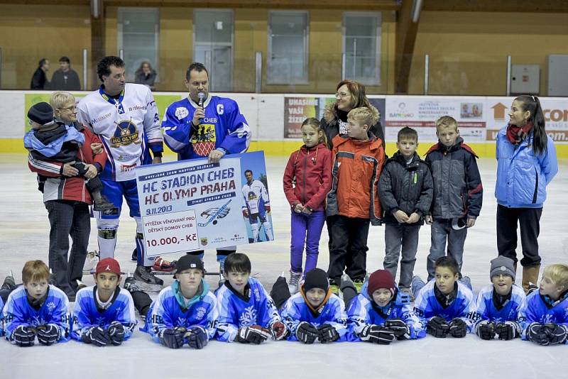
<svg viewBox="0 0 568 379">
<path fill-rule="evenodd" d="M 317 265 L 317 255 L 320 253 L 320 236 L 324 228 L 325 212 L 314 211 L 312 214 L 292 212 L 290 227 L 290 270 L 302 272 L 304 245 L 306 248 L 305 273 Z"/>
</svg>

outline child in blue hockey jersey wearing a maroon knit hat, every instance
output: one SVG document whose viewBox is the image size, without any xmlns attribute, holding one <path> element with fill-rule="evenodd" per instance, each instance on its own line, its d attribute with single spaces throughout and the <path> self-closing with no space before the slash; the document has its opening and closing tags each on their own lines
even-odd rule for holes
<svg viewBox="0 0 568 379">
<path fill-rule="evenodd" d="M 388 345 L 396 339 L 418 339 L 426 335 L 410 305 L 408 294 L 400 292 L 393 275 L 376 270 L 361 293 L 347 307 L 350 341 Z"/>
</svg>

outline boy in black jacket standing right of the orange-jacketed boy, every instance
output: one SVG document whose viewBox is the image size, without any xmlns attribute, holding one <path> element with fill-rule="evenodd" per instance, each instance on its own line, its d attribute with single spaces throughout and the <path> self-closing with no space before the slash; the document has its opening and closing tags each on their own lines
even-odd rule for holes
<svg viewBox="0 0 568 379">
<path fill-rule="evenodd" d="M 402 248 L 398 287 L 410 295 L 418 232 L 423 216 L 430 213 L 434 184 L 430 168 L 416 153 L 418 133 L 413 128 L 398 131 L 396 146 L 398 151 L 386 161 L 378 181 L 386 224 L 383 267 L 396 278 Z"/>
</svg>

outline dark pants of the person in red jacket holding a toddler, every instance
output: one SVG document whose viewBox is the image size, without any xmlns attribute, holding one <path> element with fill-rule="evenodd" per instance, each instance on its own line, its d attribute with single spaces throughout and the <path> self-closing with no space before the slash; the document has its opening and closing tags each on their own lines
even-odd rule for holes
<svg viewBox="0 0 568 379">
<path fill-rule="evenodd" d="M 89 206 L 71 200 L 45 202 L 50 223 L 49 267 L 55 286 L 67 295 L 75 295 L 77 280 L 83 277 L 84 260 L 87 258 L 91 221 Z M 69 236 L 73 241 L 69 260 Z"/>
</svg>

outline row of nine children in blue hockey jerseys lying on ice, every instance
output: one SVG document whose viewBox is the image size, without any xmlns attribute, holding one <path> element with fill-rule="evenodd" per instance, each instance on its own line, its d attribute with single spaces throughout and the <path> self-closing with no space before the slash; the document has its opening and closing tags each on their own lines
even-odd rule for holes
<svg viewBox="0 0 568 379">
<path fill-rule="evenodd" d="M 435 265 L 435 279 L 413 288 L 417 290 L 414 309 L 392 275 L 377 270 L 359 295 L 352 283 L 342 285 L 346 311 L 344 300 L 332 293 L 326 273 L 318 268 L 306 274 L 300 291 L 291 297 L 285 294 L 285 280 L 279 278 L 271 292 L 276 301 L 250 277 L 246 255 L 231 254 L 225 270 L 227 280 L 214 295 L 203 280 L 202 261 L 186 255 L 178 260 L 173 284 L 152 302 L 145 292 L 136 290 L 132 280 L 126 280 L 127 290 L 121 289 L 119 263 L 106 258 L 97 265 L 96 285 L 77 292 L 70 318 L 65 293 L 48 285 L 47 266 L 33 260 L 24 265 L 23 285 L 13 289 L 6 301 L 2 330 L 18 346 L 33 346 L 35 339 L 50 345 L 70 338 L 96 346 L 120 345 L 137 323 L 136 307 L 146 316 L 142 330 L 169 348 L 185 344 L 203 348 L 215 336 L 244 344 L 271 338 L 305 344 L 390 344 L 425 334 L 464 337 L 472 331 L 482 339 L 520 336 L 540 345 L 567 342 L 567 265 L 548 266 L 539 291 L 525 299 L 523 290 L 513 285 L 513 261 L 496 258 L 491 262 L 493 285 L 484 287 L 474 302 L 469 287 L 458 280 L 455 260 L 442 257 Z"/>
</svg>

